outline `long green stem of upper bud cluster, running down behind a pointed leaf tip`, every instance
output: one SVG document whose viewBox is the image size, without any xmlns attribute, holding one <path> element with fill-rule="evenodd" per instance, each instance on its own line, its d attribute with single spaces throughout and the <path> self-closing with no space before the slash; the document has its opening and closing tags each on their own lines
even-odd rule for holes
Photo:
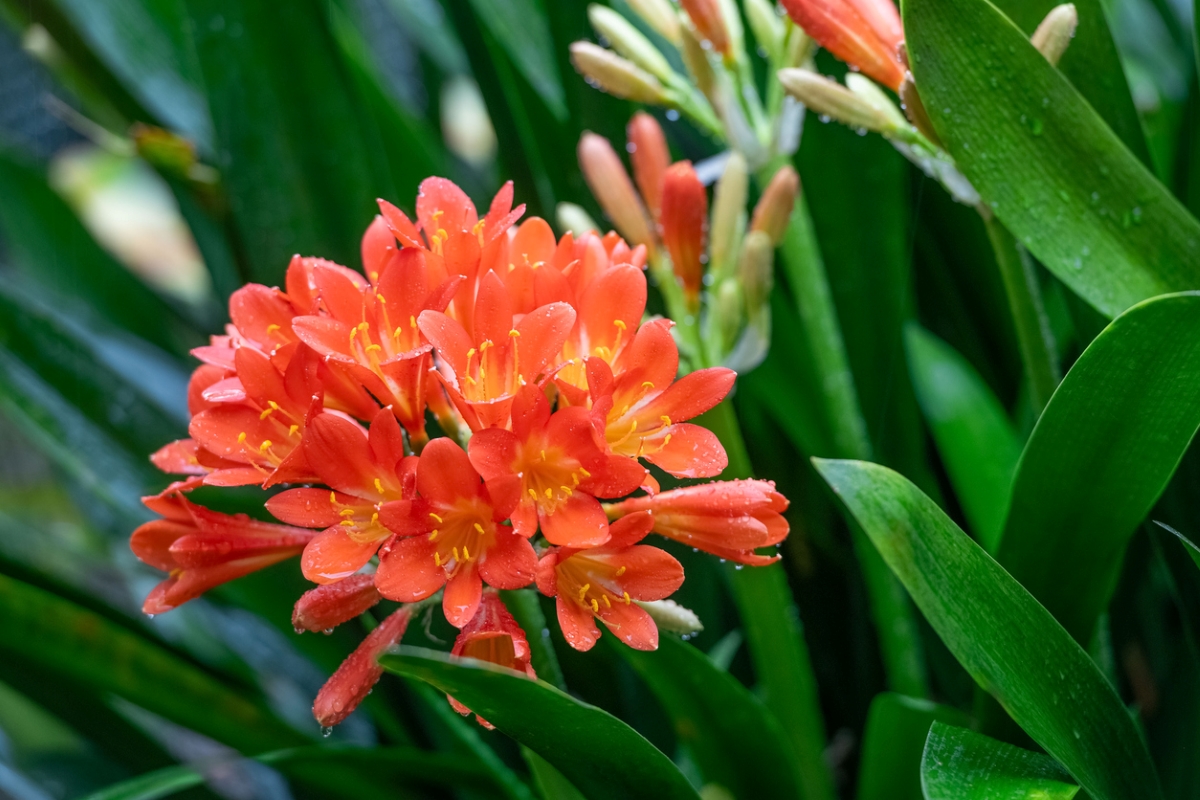
<svg viewBox="0 0 1200 800">
<path fill-rule="evenodd" d="M 774 176 L 781 163 L 780 157 L 763 168 L 758 175 L 762 186 Z M 804 331 L 803 344 L 809 348 L 817 374 L 821 375 L 820 399 L 833 441 L 833 452 L 828 455 L 834 458 L 870 461 L 871 443 L 866 434 L 866 422 L 858 404 L 838 311 L 803 194 L 796 199 L 779 255 L 796 299 Z M 851 531 L 880 637 L 888 685 L 904 694 L 929 697 L 912 603 L 866 535 L 853 523 Z"/>
</svg>

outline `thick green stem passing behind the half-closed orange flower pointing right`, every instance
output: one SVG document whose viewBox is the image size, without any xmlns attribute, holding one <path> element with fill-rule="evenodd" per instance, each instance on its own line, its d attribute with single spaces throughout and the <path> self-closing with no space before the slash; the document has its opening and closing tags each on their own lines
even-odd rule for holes
<svg viewBox="0 0 1200 800">
<path fill-rule="evenodd" d="M 750 457 L 731 401 L 702 417 L 730 456 L 726 479 L 751 477 Z M 804 800 L 833 800 L 824 762 L 826 732 L 817 681 L 784 567 L 775 564 L 727 572 L 742 616 L 763 702 L 787 732 L 804 786 Z"/>
</svg>

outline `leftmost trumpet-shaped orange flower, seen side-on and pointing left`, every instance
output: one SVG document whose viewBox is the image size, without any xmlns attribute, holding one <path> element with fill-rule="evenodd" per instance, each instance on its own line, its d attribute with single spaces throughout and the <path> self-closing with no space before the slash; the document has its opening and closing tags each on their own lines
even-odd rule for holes
<svg viewBox="0 0 1200 800">
<path fill-rule="evenodd" d="M 300 554 L 313 531 L 224 515 L 191 503 L 184 493 L 199 480 L 173 483 L 143 498 L 162 519 L 144 523 L 130 537 L 133 554 L 168 573 L 142 610 L 161 614 L 209 589 Z"/>
</svg>

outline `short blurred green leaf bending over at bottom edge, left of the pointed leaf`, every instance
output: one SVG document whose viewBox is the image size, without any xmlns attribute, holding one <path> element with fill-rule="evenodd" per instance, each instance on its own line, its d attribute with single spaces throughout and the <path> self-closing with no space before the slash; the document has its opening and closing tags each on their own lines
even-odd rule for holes
<svg viewBox="0 0 1200 800">
<path fill-rule="evenodd" d="M 934 722 L 967 724 L 967 716 L 894 692 L 875 696 L 863 729 L 857 800 L 922 800 L 920 757 Z"/>
</svg>

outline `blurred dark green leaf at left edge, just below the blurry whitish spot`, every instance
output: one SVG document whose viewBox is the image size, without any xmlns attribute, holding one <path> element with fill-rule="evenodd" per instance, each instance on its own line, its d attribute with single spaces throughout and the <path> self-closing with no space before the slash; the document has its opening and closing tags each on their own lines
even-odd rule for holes
<svg viewBox="0 0 1200 800">
<path fill-rule="evenodd" d="M 199 337 L 96 243 L 46 175 L 0 149 L 0 235 L 13 265 L 59 297 L 176 355 Z"/>
</svg>

